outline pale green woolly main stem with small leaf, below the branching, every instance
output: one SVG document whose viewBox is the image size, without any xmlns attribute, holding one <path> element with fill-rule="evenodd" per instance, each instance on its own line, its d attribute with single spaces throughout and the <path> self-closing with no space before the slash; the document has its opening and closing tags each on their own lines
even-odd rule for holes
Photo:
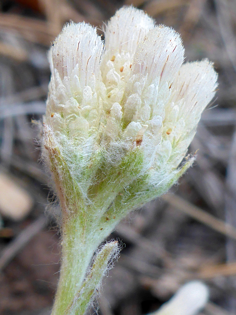
<svg viewBox="0 0 236 315">
<path fill-rule="evenodd" d="M 90 233 L 89 233 L 90 232 Z M 93 237 L 76 219 L 67 218 L 62 231 L 62 262 L 52 315 L 83 315 L 93 300 L 107 264 L 117 252 L 117 242 L 106 243 L 95 255 L 103 235 Z"/>
</svg>

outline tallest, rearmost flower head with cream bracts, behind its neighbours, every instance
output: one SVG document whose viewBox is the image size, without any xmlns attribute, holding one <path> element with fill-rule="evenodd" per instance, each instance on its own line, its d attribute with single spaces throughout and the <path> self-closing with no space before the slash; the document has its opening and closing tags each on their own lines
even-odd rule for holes
<svg viewBox="0 0 236 315">
<path fill-rule="evenodd" d="M 143 41 L 154 26 L 152 18 L 133 7 L 118 10 L 105 26 L 105 52 L 101 71 L 106 86 L 106 109 L 110 110 L 113 103 L 121 101 L 131 72 L 133 54 L 138 43 Z"/>
</svg>

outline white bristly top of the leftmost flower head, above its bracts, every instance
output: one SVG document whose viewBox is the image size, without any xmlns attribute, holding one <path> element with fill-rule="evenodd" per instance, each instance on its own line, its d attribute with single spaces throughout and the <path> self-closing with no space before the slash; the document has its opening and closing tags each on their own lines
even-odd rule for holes
<svg viewBox="0 0 236 315">
<path fill-rule="evenodd" d="M 103 52 L 103 43 L 96 29 L 86 23 L 66 24 L 53 42 L 53 67 L 59 72 L 61 80 L 75 73 L 81 87 L 95 85 L 99 79 L 99 62 Z"/>
</svg>

